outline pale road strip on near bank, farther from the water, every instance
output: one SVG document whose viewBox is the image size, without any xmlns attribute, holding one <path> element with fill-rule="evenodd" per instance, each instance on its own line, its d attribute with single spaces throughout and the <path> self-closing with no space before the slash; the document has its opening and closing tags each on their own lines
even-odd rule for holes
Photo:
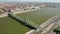
<svg viewBox="0 0 60 34">
<path fill-rule="evenodd" d="M 52 24 L 50 24 L 45 30 L 43 30 L 42 34 L 48 34 L 54 29 L 54 26 L 56 26 L 56 24 L 59 23 L 60 19 L 58 17 L 55 19 L 54 22 L 52 22 Z"/>
</svg>

